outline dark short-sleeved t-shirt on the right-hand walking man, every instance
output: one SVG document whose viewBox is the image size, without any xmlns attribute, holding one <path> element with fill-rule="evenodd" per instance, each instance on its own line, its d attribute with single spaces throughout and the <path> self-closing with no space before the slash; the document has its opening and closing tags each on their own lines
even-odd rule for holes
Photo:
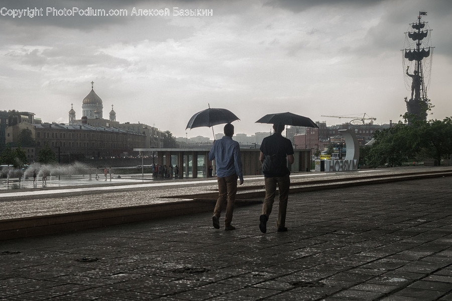
<svg viewBox="0 0 452 301">
<path fill-rule="evenodd" d="M 262 140 L 261 152 L 264 153 L 262 172 L 267 178 L 282 177 L 290 173 L 287 168 L 287 155 L 293 155 L 292 142 L 280 133 L 274 133 Z"/>
</svg>

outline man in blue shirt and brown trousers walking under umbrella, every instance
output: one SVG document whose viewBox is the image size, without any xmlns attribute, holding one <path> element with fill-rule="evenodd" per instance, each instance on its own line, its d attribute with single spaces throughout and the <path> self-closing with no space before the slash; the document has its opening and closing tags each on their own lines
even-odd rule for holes
<svg viewBox="0 0 452 301">
<path fill-rule="evenodd" d="M 239 142 L 234 141 L 234 125 L 224 125 L 224 136 L 220 140 L 213 141 L 212 149 L 208 158 L 215 160 L 216 179 L 218 181 L 218 200 L 213 209 L 212 222 L 215 229 L 219 229 L 219 217 L 224 203 L 227 202 L 226 215 L 224 218 L 224 230 L 236 229 L 231 225 L 234 204 L 237 194 L 237 178 L 240 185 L 243 184 L 242 159 L 240 157 Z"/>
</svg>

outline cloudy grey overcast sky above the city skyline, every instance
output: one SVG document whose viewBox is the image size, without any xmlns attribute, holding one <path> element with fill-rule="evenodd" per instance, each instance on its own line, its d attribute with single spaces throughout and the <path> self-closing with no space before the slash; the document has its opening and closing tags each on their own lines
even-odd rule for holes
<svg viewBox="0 0 452 301">
<path fill-rule="evenodd" d="M 68 122 L 71 103 L 82 117 L 91 90 L 117 121 L 141 122 L 174 136 L 205 108 L 227 108 L 236 133 L 269 131 L 255 123 L 290 111 L 327 125 L 367 113 L 397 122 L 410 96 L 402 66 L 404 33 L 422 20 L 435 47 L 429 119 L 452 116 L 452 2 L 449 0 L 21 1 L 0 8 L 0 110 L 22 110 L 44 122 Z M 8 16 L 43 9 L 44 16 Z M 46 16 L 47 8 L 127 10 L 128 16 Z M 169 16 L 132 16 L 133 9 L 168 9 Z M 211 10 L 212 16 L 174 16 Z M 215 133 L 222 131 L 214 126 Z"/>
</svg>

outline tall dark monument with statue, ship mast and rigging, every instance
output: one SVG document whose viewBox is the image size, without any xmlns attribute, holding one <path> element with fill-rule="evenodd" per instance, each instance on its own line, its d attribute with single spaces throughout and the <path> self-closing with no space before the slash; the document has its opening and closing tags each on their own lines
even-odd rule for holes
<svg viewBox="0 0 452 301">
<path fill-rule="evenodd" d="M 433 48 L 431 46 L 431 29 L 428 22 L 421 21 L 426 12 L 419 12 L 417 21 L 411 23 L 405 33 L 403 51 L 403 71 L 405 85 L 411 90 L 411 97 L 405 97 L 406 118 L 408 123 L 414 120 L 426 120 L 427 111 L 432 105 L 427 97 L 430 84 Z"/>
</svg>

